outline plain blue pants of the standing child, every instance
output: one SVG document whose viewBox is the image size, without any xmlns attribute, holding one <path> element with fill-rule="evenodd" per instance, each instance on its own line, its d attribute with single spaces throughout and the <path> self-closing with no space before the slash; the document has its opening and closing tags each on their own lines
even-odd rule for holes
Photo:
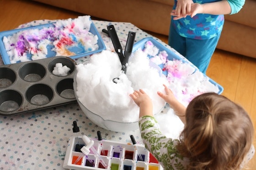
<svg viewBox="0 0 256 170">
<path fill-rule="evenodd" d="M 180 36 L 171 24 L 168 44 L 205 74 L 219 37 L 220 34 L 208 40 L 186 38 Z"/>
</svg>

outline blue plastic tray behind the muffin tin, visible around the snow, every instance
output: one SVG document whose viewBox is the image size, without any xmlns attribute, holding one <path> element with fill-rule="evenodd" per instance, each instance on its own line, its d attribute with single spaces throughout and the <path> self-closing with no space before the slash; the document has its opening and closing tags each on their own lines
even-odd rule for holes
<svg viewBox="0 0 256 170">
<path fill-rule="evenodd" d="M 29 29 L 38 29 L 38 30 L 40 30 L 40 29 L 43 29 L 43 28 L 48 28 L 48 27 L 53 26 L 53 23 L 54 22 L 48 23 L 48 24 L 42 24 L 42 25 L 39 25 L 39 26 L 30 26 L 30 27 L 21 28 L 21 29 L 14 29 L 14 30 L 10 30 L 10 31 L 2 31 L 2 32 L 0 32 L 0 54 L 1 54 L 2 58 L 3 58 L 4 64 L 11 64 L 10 57 L 7 54 L 6 50 L 5 50 L 5 44 L 3 42 L 4 36 L 6 36 L 6 37 L 7 36 L 11 36 L 12 34 L 15 34 L 15 33 L 19 32 L 19 31 L 24 31 L 24 30 L 29 30 Z M 90 32 L 93 35 L 98 36 L 97 44 L 98 44 L 99 48 L 97 50 L 95 50 L 95 51 L 81 53 L 80 52 L 81 51 L 80 48 L 74 46 L 74 47 L 72 47 L 69 50 L 71 52 L 76 53 L 76 55 L 75 56 L 70 56 L 70 58 L 75 59 L 75 58 L 79 58 L 79 57 L 89 56 L 91 54 L 94 54 L 96 52 L 101 52 L 102 50 L 106 49 L 106 46 L 105 46 L 105 44 L 104 44 L 104 42 L 103 42 L 103 40 L 101 38 L 101 35 L 97 31 L 97 29 L 96 29 L 95 25 L 93 24 L 93 22 L 91 22 Z M 50 46 L 50 45 L 47 46 L 48 54 L 47 54 L 46 57 L 55 57 L 56 52 L 53 52 L 52 48 L 53 48 L 53 46 Z M 31 54 L 28 54 L 27 57 L 31 60 Z"/>
</svg>

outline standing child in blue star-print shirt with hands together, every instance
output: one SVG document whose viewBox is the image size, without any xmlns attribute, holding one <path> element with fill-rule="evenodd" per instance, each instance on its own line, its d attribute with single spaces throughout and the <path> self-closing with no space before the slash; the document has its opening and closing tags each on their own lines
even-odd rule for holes
<svg viewBox="0 0 256 170">
<path fill-rule="evenodd" d="M 224 15 L 239 12 L 245 0 L 174 2 L 168 44 L 206 73 L 224 25 Z"/>
</svg>

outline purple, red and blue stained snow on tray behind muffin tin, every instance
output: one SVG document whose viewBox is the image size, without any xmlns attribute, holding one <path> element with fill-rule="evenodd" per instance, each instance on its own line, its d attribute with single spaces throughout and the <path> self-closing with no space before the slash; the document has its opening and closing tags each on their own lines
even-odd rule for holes
<svg viewBox="0 0 256 170">
<path fill-rule="evenodd" d="M 42 29 L 4 36 L 3 42 L 11 63 L 46 58 L 49 48 L 55 56 L 74 56 L 99 48 L 98 37 L 90 32 L 91 23 L 89 15 L 59 20 Z"/>
</svg>

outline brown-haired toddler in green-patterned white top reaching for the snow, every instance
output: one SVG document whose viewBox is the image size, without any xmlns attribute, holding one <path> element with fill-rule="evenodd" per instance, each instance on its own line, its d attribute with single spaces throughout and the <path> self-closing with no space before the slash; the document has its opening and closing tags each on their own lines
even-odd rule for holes
<svg viewBox="0 0 256 170">
<path fill-rule="evenodd" d="M 238 170 L 255 153 L 253 125 L 243 108 L 216 93 L 204 93 L 185 108 L 165 85 L 158 95 L 169 103 L 184 129 L 180 139 L 160 132 L 153 105 L 143 91 L 130 94 L 139 106 L 139 129 L 145 147 L 165 170 Z"/>
</svg>

